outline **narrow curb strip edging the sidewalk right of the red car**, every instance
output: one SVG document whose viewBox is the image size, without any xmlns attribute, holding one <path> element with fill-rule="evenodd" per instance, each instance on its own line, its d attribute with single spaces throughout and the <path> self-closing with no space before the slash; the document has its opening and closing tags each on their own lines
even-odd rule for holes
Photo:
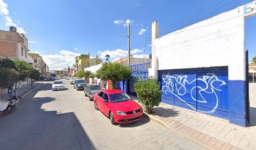
<svg viewBox="0 0 256 150">
<path fill-rule="evenodd" d="M 206 145 L 205 143 L 201 143 L 200 141 L 197 141 L 197 140 L 195 140 L 195 139 L 189 137 L 188 135 L 186 135 L 186 134 L 184 134 L 184 133 L 181 133 L 181 132 L 177 131 L 177 130 L 174 129 L 174 128 L 171 128 L 170 126 L 168 126 L 168 124 L 164 123 L 163 121 L 161 121 L 161 120 L 158 119 L 158 118 L 153 117 L 151 114 L 145 113 L 145 111 L 144 111 L 144 115 L 147 116 L 147 117 L 148 117 L 149 119 L 151 119 L 152 121 L 155 121 L 156 123 L 159 123 L 159 124 L 165 126 L 165 127 L 168 128 L 168 129 L 171 129 L 171 130 L 173 130 L 173 131 L 176 131 L 176 132 L 179 133 L 179 134 L 182 134 L 185 138 L 187 138 L 187 139 L 189 139 L 189 140 L 191 140 L 191 141 L 193 141 L 193 142 L 195 142 L 195 143 L 200 144 L 201 146 L 205 147 L 206 149 L 215 150 L 215 149 L 211 148 L 210 146 Z"/>
</svg>

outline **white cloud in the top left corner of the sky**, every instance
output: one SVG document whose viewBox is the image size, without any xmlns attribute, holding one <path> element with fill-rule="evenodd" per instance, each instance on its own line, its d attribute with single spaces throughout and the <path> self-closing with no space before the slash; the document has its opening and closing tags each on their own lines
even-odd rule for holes
<svg viewBox="0 0 256 150">
<path fill-rule="evenodd" d="M 8 4 L 6 4 L 3 0 L 0 0 L 0 14 L 4 16 L 4 19 L 6 21 L 6 26 L 14 26 L 17 28 L 17 32 L 21 34 L 26 34 L 26 31 L 22 27 L 19 27 L 16 23 L 13 22 L 13 19 L 11 19 L 9 15 L 9 10 L 8 10 Z"/>
</svg>

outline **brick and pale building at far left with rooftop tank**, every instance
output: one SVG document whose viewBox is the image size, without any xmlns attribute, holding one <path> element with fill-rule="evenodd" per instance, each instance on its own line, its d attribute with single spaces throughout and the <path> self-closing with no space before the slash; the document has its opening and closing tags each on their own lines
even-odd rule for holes
<svg viewBox="0 0 256 150">
<path fill-rule="evenodd" d="M 23 34 L 0 30 L 0 55 L 33 63 L 29 56 L 28 39 Z"/>
</svg>

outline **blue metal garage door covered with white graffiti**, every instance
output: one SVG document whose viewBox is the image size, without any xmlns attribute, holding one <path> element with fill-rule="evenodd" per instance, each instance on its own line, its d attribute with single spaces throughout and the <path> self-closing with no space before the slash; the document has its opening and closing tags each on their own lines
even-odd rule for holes
<svg viewBox="0 0 256 150">
<path fill-rule="evenodd" d="M 228 118 L 228 68 L 158 71 L 162 103 Z"/>
</svg>

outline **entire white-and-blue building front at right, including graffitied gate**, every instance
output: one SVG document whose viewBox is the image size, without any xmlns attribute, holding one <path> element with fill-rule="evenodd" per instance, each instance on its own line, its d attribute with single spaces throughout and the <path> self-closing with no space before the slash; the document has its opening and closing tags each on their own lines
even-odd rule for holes
<svg viewBox="0 0 256 150">
<path fill-rule="evenodd" d="M 256 1 L 159 37 L 152 23 L 152 69 L 161 102 L 247 126 L 248 53 L 245 18 Z M 171 41 L 171 42 L 170 42 Z"/>
</svg>

